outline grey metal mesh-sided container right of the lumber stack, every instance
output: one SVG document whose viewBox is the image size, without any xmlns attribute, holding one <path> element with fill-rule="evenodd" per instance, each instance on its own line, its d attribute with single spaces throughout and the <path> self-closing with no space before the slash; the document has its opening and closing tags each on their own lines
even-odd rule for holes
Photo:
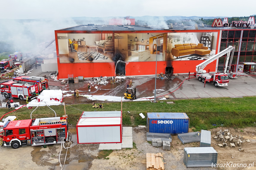
<svg viewBox="0 0 256 170">
<path fill-rule="evenodd" d="M 186 167 L 212 166 L 217 163 L 218 153 L 213 147 L 184 148 L 183 163 Z"/>
</svg>

